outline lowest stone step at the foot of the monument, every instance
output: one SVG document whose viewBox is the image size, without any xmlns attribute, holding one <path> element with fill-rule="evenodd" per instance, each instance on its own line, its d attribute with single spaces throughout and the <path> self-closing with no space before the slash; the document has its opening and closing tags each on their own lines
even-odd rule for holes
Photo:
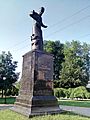
<svg viewBox="0 0 90 120">
<path fill-rule="evenodd" d="M 48 114 L 59 114 L 61 110 L 58 106 L 53 107 L 22 107 L 20 105 L 15 105 L 10 108 L 11 110 L 23 114 L 27 117 L 38 116 L 38 115 L 48 115 Z"/>
</svg>

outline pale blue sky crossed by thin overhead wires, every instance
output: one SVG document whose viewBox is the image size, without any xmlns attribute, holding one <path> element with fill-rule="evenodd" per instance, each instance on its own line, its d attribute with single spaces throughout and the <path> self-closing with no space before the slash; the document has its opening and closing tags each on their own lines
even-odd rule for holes
<svg viewBox="0 0 90 120">
<path fill-rule="evenodd" d="M 44 40 L 79 40 L 90 44 L 90 0 L 0 0 L 0 53 L 10 51 L 22 71 L 22 56 L 31 51 L 32 10 L 45 7 Z"/>
</svg>

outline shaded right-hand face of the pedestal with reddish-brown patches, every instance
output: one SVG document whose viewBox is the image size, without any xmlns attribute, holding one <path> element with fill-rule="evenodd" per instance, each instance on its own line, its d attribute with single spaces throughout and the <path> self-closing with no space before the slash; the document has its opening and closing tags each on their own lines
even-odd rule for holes
<svg viewBox="0 0 90 120">
<path fill-rule="evenodd" d="M 53 94 L 53 56 L 44 52 L 36 53 L 34 95 Z"/>
</svg>

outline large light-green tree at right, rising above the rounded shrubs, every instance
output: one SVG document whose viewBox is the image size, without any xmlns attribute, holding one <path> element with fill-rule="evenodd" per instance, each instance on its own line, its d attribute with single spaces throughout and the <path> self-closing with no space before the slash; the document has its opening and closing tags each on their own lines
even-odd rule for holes
<svg viewBox="0 0 90 120">
<path fill-rule="evenodd" d="M 85 49 L 88 49 L 87 46 L 85 43 L 81 45 L 79 41 L 74 40 L 64 45 L 65 62 L 62 63 L 59 87 L 86 86 L 88 81 L 88 64 L 86 65 L 88 59 L 86 55 L 88 52 Z"/>
</svg>

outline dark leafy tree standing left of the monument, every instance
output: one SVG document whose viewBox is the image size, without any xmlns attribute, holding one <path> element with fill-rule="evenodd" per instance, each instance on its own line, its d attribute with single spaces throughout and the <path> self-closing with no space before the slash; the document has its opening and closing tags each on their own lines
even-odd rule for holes
<svg viewBox="0 0 90 120">
<path fill-rule="evenodd" d="M 12 61 L 13 57 L 10 52 L 7 54 L 2 52 L 0 54 L 0 89 L 6 91 L 10 89 L 19 77 L 19 73 L 16 73 L 17 61 Z"/>
</svg>

